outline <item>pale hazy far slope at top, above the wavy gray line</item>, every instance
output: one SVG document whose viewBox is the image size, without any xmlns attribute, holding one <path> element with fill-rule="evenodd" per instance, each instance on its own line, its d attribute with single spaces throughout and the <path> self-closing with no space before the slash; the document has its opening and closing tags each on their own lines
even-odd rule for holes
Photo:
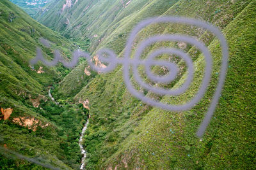
<svg viewBox="0 0 256 170">
<path fill-rule="evenodd" d="M 112 44 L 113 39 L 113 48 L 116 47 L 118 52 L 121 52 L 124 48 L 122 42 L 137 22 L 143 18 L 161 15 L 177 0 L 76 2 L 72 1 L 70 6 L 65 6 L 65 0 L 51 1 L 35 18 L 47 27 L 60 31 L 67 38 L 76 39 L 81 43 L 89 38 L 90 52 L 99 48 L 103 44 L 102 41 L 104 44 Z M 122 30 L 118 30 L 118 27 L 122 27 Z"/>
</svg>

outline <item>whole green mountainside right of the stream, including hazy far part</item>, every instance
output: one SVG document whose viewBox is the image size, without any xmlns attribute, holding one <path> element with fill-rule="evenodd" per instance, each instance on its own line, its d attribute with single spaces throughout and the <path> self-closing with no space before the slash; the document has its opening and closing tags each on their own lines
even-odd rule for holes
<svg viewBox="0 0 256 170">
<path fill-rule="evenodd" d="M 220 74 L 220 42 L 208 31 L 186 25 L 157 24 L 143 29 L 132 52 L 143 39 L 162 33 L 188 34 L 203 41 L 214 59 L 211 83 L 200 103 L 189 111 L 175 113 L 152 108 L 132 97 L 120 78 L 120 66 L 111 73 L 95 76 L 74 97 L 77 103 L 86 101 L 90 107 L 90 124 L 84 136 L 87 169 L 255 169 L 255 1 L 67 2 L 52 1 L 36 18 L 76 41 L 83 43 L 90 38 L 88 49 L 93 54 L 108 47 L 122 57 L 132 27 L 143 18 L 159 15 L 182 15 L 211 22 L 223 31 L 230 48 L 220 102 L 204 137 L 198 139 L 195 132 L 211 103 Z M 195 46 L 178 41 L 155 43 L 146 48 L 143 57 L 159 46 L 181 48 L 191 55 L 196 68 L 191 87 L 181 96 L 156 96 L 140 88 L 132 76 L 131 81 L 148 97 L 169 104 L 186 103 L 195 96 L 204 76 L 204 55 Z M 180 74 L 167 87 L 180 87 L 187 74 L 182 60 L 169 55 L 159 58 L 178 64 Z M 79 91 L 81 85 L 72 81 L 83 71 L 81 67 L 74 69 L 57 90 Z M 164 74 L 163 68 L 154 67 L 153 71 Z M 143 68 L 140 73 L 145 81 L 156 85 L 145 77 Z"/>
</svg>

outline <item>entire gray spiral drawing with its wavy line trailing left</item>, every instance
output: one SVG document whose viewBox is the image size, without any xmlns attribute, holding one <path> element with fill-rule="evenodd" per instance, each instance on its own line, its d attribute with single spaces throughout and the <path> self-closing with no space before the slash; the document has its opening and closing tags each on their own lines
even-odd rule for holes
<svg viewBox="0 0 256 170">
<path fill-rule="evenodd" d="M 203 122 L 201 123 L 198 131 L 196 132 L 196 135 L 198 137 L 202 137 L 202 135 L 205 132 L 205 129 L 207 128 L 207 125 L 209 124 L 211 117 L 214 113 L 214 110 L 216 108 L 216 105 L 218 104 L 218 100 L 220 98 L 221 89 L 223 87 L 225 76 L 227 73 L 227 62 L 228 62 L 228 46 L 227 41 L 221 31 L 214 27 L 213 25 L 201 21 L 201 20 L 195 20 L 192 18 L 184 18 L 184 17 L 172 17 L 172 16 L 166 16 L 166 17 L 154 17 L 154 18 L 148 18 L 146 20 L 143 20 L 140 22 L 131 32 L 131 35 L 129 36 L 129 39 L 127 40 L 127 44 L 125 46 L 125 52 L 124 57 L 117 58 L 117 55 L 115 52 L 109 49 L 102 49 L 97 54 L 99 55 L 99 60 L 102 62 L 107 62 L 108 66 L 102 68 L 95 66 L 93 64 L 92 57 L 89 53 L 83 52 L 81 50 L 76 50 L 73 53 L 73 59 L 70 62 L 66 62 L 60 55 L 60 51 L 55 50 L 54 51 L 54 59 L 52 61 L 47 61 L 44 59 L 42 55 L 42 50 L 40 48 L 36 48 L 36 58 L 31 60 L 31 64 L 35 64 L 39 60 L 44 62 L 47 66 L 55 66 L 58 62 L 61 62 L 63 66 L 65 67 L 74 67 L 76 66 L 79 57 L 84 57 L 87 59 L 88 64 L 92 67 L 93 70 L 98 71 L 100 73 L 108 73 L 109 71 L 112 71 L 115 69 L 117 64 L 123 65 L 123 74 L 124 74 L 124 82 L 129 90 L 129 92 L 134 96 L 143 101 L 143 103 L 149 104 L 150 106 L 156 106 L 158 108 L 162 108 L 164 110 L 170 110 L 170 111 L 186 111 L 195 106 L 196 103 L 202 99 L 204 96 L 207 87 L 209 85 L 210 79 L 211 79 L 211 71 L 212 71 L 212 56 L 207 47 L 202 43 L 201 41 L 196 40 L 192 36 L 186 36 L 186 35 L 180 35 L 180 34 L 163 34 L 163 35 L 157 35 L 152 36 L 148 39 L 143 40 L 138 48 L 136 49 L 136 52 L 134 54 L 134 57 L 131 58 L 131 50 L 132 50 L 132 44 L 134 42 L 134 38 L 136 38 L 136 34 L 140 32 L 143 28 L 147 27 L 150 24 L 157 24 L 157 23 L 174 23 L 174 24 L 188 24 L 188 25 L 195 25 L 198 27 L 202 27 L 206 29 L 207 31 L 212 32 L 219 40 L 221 44 L 221 52 L 222 52 L 222 63 L 221 63 L 221 72 L 220 77 L 218 81 L 218 85 L 216 87 L 216 91 L 214 93 L 214 96 L 212 98 L 212 103 L 210 104 L 207 113 L 204 117 Z M 45 45 L 49 46 L 49 42 L 46 39 L 40 39 L 40 41 Z M 200 85 L 200 89 L 198 90 L 197 94 L 191 101 L 189 101 L 186 104 L 182 105 L 171 105 L 171 104 L 165 104 L 161 103 L 161 101 L 156 101 L 154 99 L 150 99 L 149 97 L 145 96 L 143 92 L 139 92 L 138 90 L 134 89 L 132 86 L 132 83 L 130 81 L 130 70 L 129 67 L 132 66 L 132 72 L 134 79 L 137 81 L 141 87 L 144 89 L 147 89 L 150 92 L 154 92 L 159 95 L 167 95 L 167 96 L 178 96 L 182 93 L 184 93 L 189 85 L 191 84 L 194 76 L 194 67 L 193 67 L 193 61 L 191 60 L 191 57 L 188 56 L 187 53 L 183 52 L 182 50 L 175 49 L 175 48 L 160 48 L 155 50 L 154 52 L 150 53 L 150 55 L 147 57 L 147 59 L 141 60 L 140 56 L 143 53 L 143 50 L 153 43 L 159 42 L 159 41 L 183 41 L 186 43 L 189 43 L 191 45 L 196 46 L 196 48 L 200 49 L 201 52 L 204 54 L 205 57 L 205 71 L 204 71 L 204 79 Z M 186 62 L 186 66 L 188 66 L 188 77 L 185 81 L 185 83 L 179 87 L 179 89 L 174 90 L 167 90 L 167 89 L 161 89 L 159 87 L 153 87 L 152 85 L 148 85 L 145 81 L 141 80 L 139 73 L 138 73 L 138 66 L 143 65 L 145 66 L 145 73 L 147 74 L 148 78 L 154 82 L 157 83 L 170 83 L 170 81 L 174 80 L 177 76 L 177 73 L 179 73 L 178 67 L 172 63 L 168 62 L 166 60 L 154 60 L 157 56 L 161 54 L 175 54 L 179 56 L 181 59 L 183 59 Z M 106 54 L 108 57 L 104 57 L 103 55 Z M 169 74 L 167 76 L 156 76 L 150 71 L 151 66 L 164 66 L 167 67 L 169 70 Z M 170 74 L 172 73 L 172 74 Z"/>
</svg>

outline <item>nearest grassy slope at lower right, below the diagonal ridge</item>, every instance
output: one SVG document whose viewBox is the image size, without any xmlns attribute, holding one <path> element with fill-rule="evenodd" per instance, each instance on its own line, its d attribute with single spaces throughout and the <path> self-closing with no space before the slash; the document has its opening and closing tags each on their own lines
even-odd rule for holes
<svg viewBox="0 0 256 170">
<path fill-rule="evenodd" d="M 149 111 L 134 128 L 135 133 L 107 160 L 111 162 L 108 167 L 255 169 L 255 5 L 250 3 L 223 29 L 230 45 L 228 74 L 204 138 L 196 138 L 195 132 L 211 92 L 191 111 Z M 218 43 L 213 41 L 209 48 L 214 59 L 220 60 Z M 198 69 L 201 58 L 195 61 Z M 162 101 L 172 100 L 164 97 Z"/>
</svg>

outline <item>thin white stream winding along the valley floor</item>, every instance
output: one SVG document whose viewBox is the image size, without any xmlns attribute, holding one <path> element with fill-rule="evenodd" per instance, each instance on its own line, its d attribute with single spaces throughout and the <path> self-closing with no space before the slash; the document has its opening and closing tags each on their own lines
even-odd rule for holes
<svg viewBox="0 0 256 170">
<path fill-rule="evenodd" d="M 49 94 L 49 97 L 52 99 L 52 101 L 54 101 L 57 105 L 59 105 L 59 103 L 55 101 L 54 97 L 52 97 L 51 88 L 49 89 L 48 94 Z M 81 132 L 81 136 L 80 136 L 80 139 L 79 139 L 79 147 L 80 147 L 80 150 L 81 150 L 81 154 L 83 155 L 83 158 L 81 160 L 80 169 L 84 169 L 84 161 L 86 159 L 86 151 L 83 148 L 83 137 L 84 137 L 84 132 L 86 131 L 88 124 L 89 124 L 89 118 L 87 119 L 86 124 L 84 124 L 83 130 Z"/>
</svg>

